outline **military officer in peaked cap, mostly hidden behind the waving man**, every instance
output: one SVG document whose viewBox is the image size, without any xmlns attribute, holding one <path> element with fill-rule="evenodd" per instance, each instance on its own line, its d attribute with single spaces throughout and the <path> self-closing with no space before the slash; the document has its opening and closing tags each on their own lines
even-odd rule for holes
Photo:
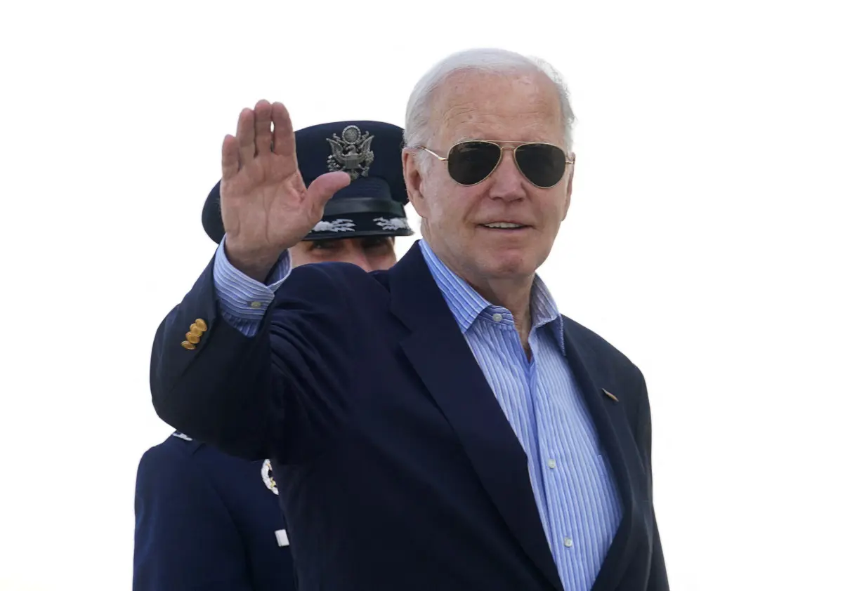
<svg viewBox="0 0 864 591">
<path fill-rule="evenodd" d="M 410 236 L 402 174 L 403 130 L 372 121 L 323 123 L 295 132 L 308 186 L 344 171 L 321 222 L 289 250 L 291 264 L 352 262 L 367 271 L 396 262 L 396 236 Z M 219 243 L 225 230 L 219 183 L 201 221 Z M 206 326 L 193 325 L 183 346 L 194 349 Z M 147 450 L 135 491 L 133 591 L 247 591 L 295 588 L 290 540 L 270 461 L 249 462 L 175 432 Z"/>
</svg>

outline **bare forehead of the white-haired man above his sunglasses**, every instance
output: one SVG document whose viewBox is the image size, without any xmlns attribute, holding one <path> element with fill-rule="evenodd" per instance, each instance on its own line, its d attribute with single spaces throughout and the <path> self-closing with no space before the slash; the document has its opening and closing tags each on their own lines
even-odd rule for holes
<svg viewBox="0 0 864 591">
<path fill-rule="evenodd" d="M 435 138 L 562 140 L 555 85 L 541 74 L 459 72 L 444 81 L 433 101 Z"/>
</svg>

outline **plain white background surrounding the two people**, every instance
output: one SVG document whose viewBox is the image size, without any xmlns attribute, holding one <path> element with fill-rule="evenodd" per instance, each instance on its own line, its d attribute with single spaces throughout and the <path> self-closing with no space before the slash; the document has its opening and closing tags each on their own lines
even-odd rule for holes
<svg viewBox="0 0 864 591">
<path fill-rule="evenodd" d="M 0 588 L 130 588 L 152 337 L 238 112 L 403 124 L 479 46 L 571 87 L 541 274 L 645 373 L 672 588 L 864 588 L 861 4 L 299 4 L 3 5 Z"/>
</svg>

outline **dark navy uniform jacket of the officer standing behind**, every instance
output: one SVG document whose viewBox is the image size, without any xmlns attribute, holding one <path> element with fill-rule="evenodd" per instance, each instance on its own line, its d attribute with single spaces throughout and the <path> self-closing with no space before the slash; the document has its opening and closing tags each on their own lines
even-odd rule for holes
<svg viewBox="0 0 864 591">
<path fill-rule="evenodd" d="M 147 450 L 135 489 L 133 591 L 293 591 L 270 462 L 175 433 Z"/>
</svg>

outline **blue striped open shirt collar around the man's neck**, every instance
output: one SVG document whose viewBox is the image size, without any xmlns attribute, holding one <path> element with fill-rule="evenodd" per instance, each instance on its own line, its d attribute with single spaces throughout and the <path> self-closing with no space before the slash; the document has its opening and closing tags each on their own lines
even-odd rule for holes
<svg viewBox="0 0 864 591">
<path fill-rule="evenodd" d="M 480 314 L 487 308 L 494 308 L 486 298 L 476 292 L 472 286 L 467 284 L 459 275 L 454 273 L 441 259 L 432 252 L 429 244 L 420 239 L 420 249 L 429 271 L 435 279 L 438 289 L 441 290 L 448 308 L 453 313 L 456 324 L 464 335 Z M 540 277 L 534 277 L 534 286 L 531 288 L 531 328 L 537 329 L 545 324 L 551 324 L 550 329 L 555 336 L 556 343 L 564 352 L 564 322 L 558 306 L 549 288 Z"/>
</svg>

